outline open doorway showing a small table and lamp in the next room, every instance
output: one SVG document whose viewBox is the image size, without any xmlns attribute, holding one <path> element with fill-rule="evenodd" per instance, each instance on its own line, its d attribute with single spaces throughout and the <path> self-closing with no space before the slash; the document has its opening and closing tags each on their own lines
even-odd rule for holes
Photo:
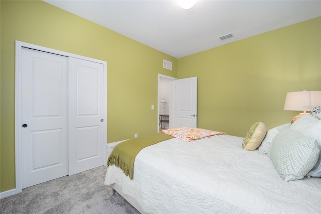
<svg viewBox="0 0 321 214">
<path fill-rule="evenodd" d="M 173 127 L 174 118 L 174 80 L 177 78 L 158 74 L 158 132 Z"/>
</svg>

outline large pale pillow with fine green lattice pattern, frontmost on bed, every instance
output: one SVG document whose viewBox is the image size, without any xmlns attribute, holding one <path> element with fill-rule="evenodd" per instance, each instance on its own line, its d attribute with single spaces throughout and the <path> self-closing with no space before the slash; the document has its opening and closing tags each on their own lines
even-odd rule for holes
<svg viewBox="0 0 321 214">
<path fill-rule="evenodd" d="M 313 138 L 286 129 L 275 136 L 268 156 L 280 177 L 291 181 L 303 178 L 316 164 L 319 153 Z"/>
</svg>

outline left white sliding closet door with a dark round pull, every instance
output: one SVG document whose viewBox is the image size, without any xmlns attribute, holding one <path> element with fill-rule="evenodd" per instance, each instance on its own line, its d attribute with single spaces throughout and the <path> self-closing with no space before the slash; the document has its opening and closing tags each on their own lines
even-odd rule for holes
<svg viewBox="0 0 321 214">
<path fill-rule="evenodd" d="M 68 57 L 22 49 L 22 188 L 68 174 Z"/>
</svg>

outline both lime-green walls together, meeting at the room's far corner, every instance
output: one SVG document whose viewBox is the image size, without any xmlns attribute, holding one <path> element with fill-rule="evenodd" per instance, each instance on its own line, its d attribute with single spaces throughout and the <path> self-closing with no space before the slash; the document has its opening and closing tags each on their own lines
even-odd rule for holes
<svg viewBox="0 0 321 214">
<path fill-rule="evenodd" d="M 242 137 L 298 114 L 286 92 L 321 90 L 321 17 L 176 59 L 44 2 L 0 9 L 0 192 L 15 188 L 15 40 L 107 62 L 108 142 L 156 132 L 158 73 L 198 76 L 198 127 Z"/>
</svg>

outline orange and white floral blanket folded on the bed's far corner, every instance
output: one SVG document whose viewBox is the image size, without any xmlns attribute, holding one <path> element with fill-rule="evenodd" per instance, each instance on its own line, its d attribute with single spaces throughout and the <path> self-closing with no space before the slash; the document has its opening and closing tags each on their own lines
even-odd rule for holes
<svg viewBox="0 0 321 214">
<path fill-rule="evenodd" d="M 163 133 L 182 139 L 183 141 L 195 141 L 202 138 L 213 137 L 215 135 L 226 135 L 225 132 L 217 132 L 201 128 L 181 127 L 163 130 Z"/>
</svg>

